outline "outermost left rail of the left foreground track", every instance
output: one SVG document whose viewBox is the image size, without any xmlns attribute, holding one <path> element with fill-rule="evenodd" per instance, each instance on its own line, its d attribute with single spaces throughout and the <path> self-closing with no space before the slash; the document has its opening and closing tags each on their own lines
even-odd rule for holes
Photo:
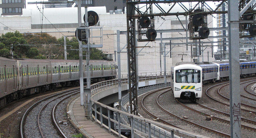
<svg viewBox="0 0 256 138">
<path fill-rule="evenodd" d="M 24 127 L 23 127 L 23 126 L 24 126 L 24 123 L 25 123 L 25 120 L 26 120 L 26 118 L 27 118 L 28 113 L 33 109 L 34 106 L 36 106 L 36 105 L 38 105 L 39 103 L 41 103 L 41 102 L 43 102 L 43 101 L 45 101 L 45 100 L 47 100 L 47 99 L 50 99 L 50 98 L 52 98 L 52 97 L 54 97 L 54 96 L 58 96 L 58 95 L 60 95 L 60 94 L 66 93 L 66 92 L 68 92 L 68 91 L 76 90 L 76 89 L 79 89 L 79 88 L 74 88 L 74 89 L 66 90 L 66 91 L 63 91 L 63 92 L 54 94 L 54 95 L 52 95 L 52 96 L 48 96 L 48 97 L 46 97 L 46 98 L 44 98 L 44 99 L 42 99 L 42 100 L 36 102 L 35 104 L 31 105 L 31 106 L 25 111 L 25 113 L 24 113 L 23 116 L 22 116 L 22 119 L 21 119 L 21 122 L 20 122 L 20 137 L 21 137 L 21 138 L 24 138 L 24 136 L 23 136 L 23 129 L 24 129 Z"/>
</svg>

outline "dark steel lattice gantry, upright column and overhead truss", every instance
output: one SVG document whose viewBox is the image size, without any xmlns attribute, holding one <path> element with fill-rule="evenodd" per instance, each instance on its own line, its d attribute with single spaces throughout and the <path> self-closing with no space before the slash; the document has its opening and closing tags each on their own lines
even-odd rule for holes
<svg viewBox="0 0 256 138">
<path fill-rule="evenodd" d="M 127 10 L 127 56 L 128 56 L 128 76 L 129 76 L 129 94 L 130 94 L 130 109 L 131 113 L 138 114 L 138 63 L 137 63 L 137 53 L 136 53 L 136 19 L 139 19 L 141 17 L 150 17 L 151 25 L 150 27 L 154 29 L 154 16 L 171 16 L 176 15 L 177 17 L 179 15 L 192 15 L 199 13 L 198 11 L 195 11 L 197 7 L 201 7 L 204 9 L 207 9 L 207 11 L 202 11 L 200 14 L 208 15 L 208 14 L 214 14 L 214 13 L 227 13 L 227 11 L 217 11 L 220 8 L 220 5 L 217 6 L 216 9 L 212 9 L 208 4 L 205 2 L 207 1 L 216 1 L 220 2 L 221 4 L 225 2 L 226 0 L 126 0 L 126 10 Z M 184 2 L 189 3 L 189 7 L 184 6 Z M 196 4 L 192 6 L 192 2 L 196 2 Z M 165 11 L 159 4 L 160 3 L 172 3 L 172 6 L 170 6 L 170 9 L 168 11 Z M 145 6 L 139 6 L 140 4 L 144 4 Z M 184 10 L 184 12 L 172 12 L 172 8 L 174 5 L 180 5 L 180 7 Z M 157 9 L 160 10 L 160 13 L 153 13 L 152 6 L 155 6 Z M 146 7 L 146 10 L 142 9 L 143 7 Z M 143 34 L 143 30 L 141 30 L 140 26 L 138 27 L 138 41 L 145 41 L 145 39 L 141 38 L 141 34 Z M 187 28 L 187 27 L 186 27 Z M 187 30 L 187 29 L 186 29 Z"/>
</svg>

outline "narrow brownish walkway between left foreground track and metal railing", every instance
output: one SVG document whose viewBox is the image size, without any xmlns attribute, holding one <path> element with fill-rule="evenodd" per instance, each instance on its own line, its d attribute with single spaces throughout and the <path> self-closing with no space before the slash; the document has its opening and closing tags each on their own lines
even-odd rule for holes
<svg viewBox="0 0 256 138">
<path fill-rule="evenodd" d="M 108 133 L 105 128 L 100 127 L 100 125 L 84 117 L 84 108 L 83 106 L 80 106 L 80 97 L 76 98 L 74 101 L 75 103 L 73 104 L 72 112 L 75 120 L 72 119 L 72 121 L 78 126 L 83 125 L 84 131 L 81 130 L 82 132 L 87 133 L 94 138 L 116 138 L 112 133 Z"/>
</svg>

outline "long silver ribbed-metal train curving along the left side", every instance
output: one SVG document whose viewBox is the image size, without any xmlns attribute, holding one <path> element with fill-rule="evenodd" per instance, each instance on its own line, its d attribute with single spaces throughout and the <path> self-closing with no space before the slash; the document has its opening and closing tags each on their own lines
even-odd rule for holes
<svg viewBox="0 0 256 138">
<path fill-rule="evenodd" d="M 115 61 L 90 60 L 91 82 L 115 79 Z M 84 79 L 86 61 L 83 61 Z M 59 86 L 79 85 L 79 60 L 11 59 L 0 57 L 0 107 Z"/>
</svg>

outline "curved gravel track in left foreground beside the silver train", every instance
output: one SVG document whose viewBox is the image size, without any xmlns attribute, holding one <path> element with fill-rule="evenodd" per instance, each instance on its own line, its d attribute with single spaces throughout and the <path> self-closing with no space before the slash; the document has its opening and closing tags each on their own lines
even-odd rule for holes
<svg viewBox="0 0 256 138">
<path fill-rule="evenodd" d="M 20 136 L 23 137 L 66 137 L 55 120 L 55 110 L 63 100 L 79 93 L 79 88 L 66 90 L 46 97 L 28 108 L 20 123 Z M 46 109 L 50 107 L 51 110 Z M 40 111 L 39 111 L 40 110 Z M 36 127 L 36 129 L 35 129 Z M 38 128 L 38 129 L 37 129 Z M 53 129 L 55 130 L 53 130 Z M 50 129 L 51 133 L 48 132 Z M 46 133 L 47 132 L 47 133 Z M 28 135 L 30 134 L 30 135 Z M 59 135 L 61 134 L 61 136 Z"/>
</svg>

